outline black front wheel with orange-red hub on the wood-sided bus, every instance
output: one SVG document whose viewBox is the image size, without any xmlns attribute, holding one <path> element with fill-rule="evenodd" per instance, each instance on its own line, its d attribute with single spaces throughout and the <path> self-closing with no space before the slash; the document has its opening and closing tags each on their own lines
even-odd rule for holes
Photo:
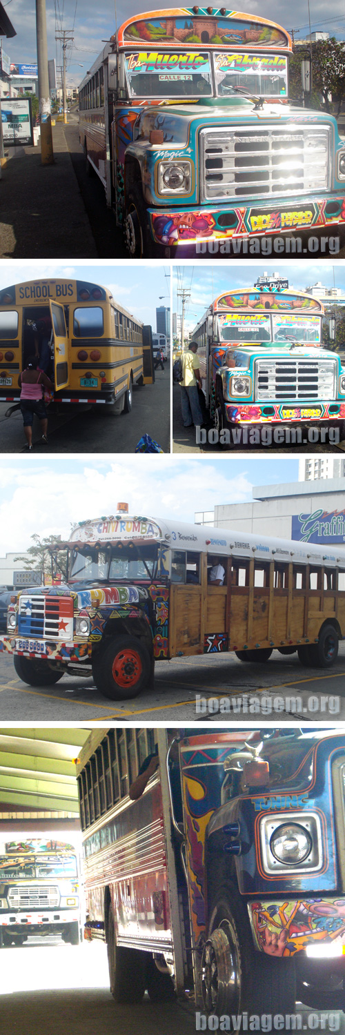
<svg viewBox="0 0 345 1035">
<path fill-rule="evenodd" d="M 92 661 L 92 675 L 100 693 L 112 701 L 137 698 L 149 683 L 150 655 L 137 637 L 115 637 Z"/>
</svg>

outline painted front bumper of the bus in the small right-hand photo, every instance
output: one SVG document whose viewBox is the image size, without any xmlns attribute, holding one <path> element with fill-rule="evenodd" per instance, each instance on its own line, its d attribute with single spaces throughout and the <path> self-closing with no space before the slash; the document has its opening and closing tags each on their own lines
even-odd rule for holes
<svg viewBox="0 0 345 1035">
<path fill-rule="evenodd" d="M 337 411 L 337 412 L 335 412 Z M 322 403 L 313 400 L 303 406 L 294 403 L 225 403 L 229 424 L 315 423 L 345 419 L 345 403 Z"/>
</svg>

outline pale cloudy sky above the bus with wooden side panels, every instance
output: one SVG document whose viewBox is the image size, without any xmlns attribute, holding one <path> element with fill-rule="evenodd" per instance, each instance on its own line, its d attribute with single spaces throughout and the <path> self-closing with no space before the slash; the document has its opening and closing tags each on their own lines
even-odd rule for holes
<svg viewBox="0 0 345 1035">
<path fill-rule="evenodd" d="M 175 518 L 194 523 L 195 511 L 252 500 L 253 485 L 297 481 L 298 461 L 180 460 L 141 455 L 90 462 L 85 459 L 5 456 L 0 469 L 3 558 L 22 553 L 38 534 L 68 537 L 70 524 L 116 512 Z"/>
</svg>

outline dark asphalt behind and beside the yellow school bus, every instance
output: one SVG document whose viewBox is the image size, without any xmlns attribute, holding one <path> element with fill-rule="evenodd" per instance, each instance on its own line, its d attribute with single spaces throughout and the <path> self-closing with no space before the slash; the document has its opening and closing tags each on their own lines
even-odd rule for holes
<svg viewBox="0 0 345 1035">
<path fill-rule="evenodd" d="M 0 452 L 25 451 L 23 418 L 20 410 L 5 417 L 11 404 L 0 403 Z M 61 415 L 48 410 L 49 453 L 55 452 L 131 452 L 142 435 L 150 435 L 170 451 L 170 362 L 155 371 L 153 385 L 136 386 L 131 414 L 116 416 L 113 407 L 94 406 L 75 409 L 65 405 Z M 47 452 L 40 441 L 40 425 L 34 421 L 33 448 Z"/>
</svg>

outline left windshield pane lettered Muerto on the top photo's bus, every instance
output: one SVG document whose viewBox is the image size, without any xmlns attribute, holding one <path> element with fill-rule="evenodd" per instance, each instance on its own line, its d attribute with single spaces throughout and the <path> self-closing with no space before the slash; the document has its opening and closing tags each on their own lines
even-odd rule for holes
<svg viewBox="0 0 345 1035">
<path fill-rule="evenodd" d="M 142 51 L 125 54 L 130 97 L 211 96 L 212 78 L 207 52 L 165 54 Z"/>
</svg>

